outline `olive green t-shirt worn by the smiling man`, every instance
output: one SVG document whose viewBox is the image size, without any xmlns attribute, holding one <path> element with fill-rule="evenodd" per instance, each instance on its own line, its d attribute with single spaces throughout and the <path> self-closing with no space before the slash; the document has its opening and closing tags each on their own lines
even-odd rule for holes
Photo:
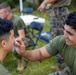
<svg viewBox="0 0 76 75">
<path fill-rule="evenodd" d="M 64 58 L 64 62 L 69 67 L 71 75 L 76 75 L 76 48 L 66 45 L 62 35 L 51 40 L 45 47 L 50 55 L 54 56 L 60 53 Z"/>
</svg>

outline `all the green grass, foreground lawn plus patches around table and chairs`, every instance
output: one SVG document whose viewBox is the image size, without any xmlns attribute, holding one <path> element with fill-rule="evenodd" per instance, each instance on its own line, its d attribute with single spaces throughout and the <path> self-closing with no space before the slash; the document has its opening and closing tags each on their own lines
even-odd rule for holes
<svg viewBox="0 0 76 75">
<path fill-rule="evenodd" d="M 33 15 L 45 18 L 43 32 L 49 31 L 48 12 L 45 11 L 40 13 L 35 11 L 33 12 Z M 39 47 L 42 47 L 44 45 L 45 44 L 43 42 L 40 42 L 40 41 L 38 42 Z M 42 63 L 40 63 L 39 61 L 36 61 L 36 62 L 29 61 L 27 68 L 24 71 L 19 73 L 19 72 L 16 72 L 18 60 L 14 57 L 12 52 L 10 52 L 6 56 L 3 64 L 12 75 L 18 75 L 18 74 L 19 75 L 48 75 L 49 73 L 52 72 L 51 67 L 53 65 L 56 65 L 56 62 L 54 57 L 46 59 L 42 61 Z"/>
</svg>

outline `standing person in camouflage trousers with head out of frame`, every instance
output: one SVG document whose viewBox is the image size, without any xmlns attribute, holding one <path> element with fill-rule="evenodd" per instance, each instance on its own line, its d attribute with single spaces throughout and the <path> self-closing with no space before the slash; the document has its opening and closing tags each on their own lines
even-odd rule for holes
<svg viewBox="0 0 76 75">
<path fill-rule="evenodd" d="M 49 10 L 48 10 L 48 16 L 49 16 L 49 24 L 50 24 L 50 33 L 51 33 L 51 39 L 58 35 L 63 34 L 63 25 L 66 16 L 68 15 L 68 9 L 67 6 L 71 3 L 71 0 L 44 0 L 39 10 L 43 11 L 47 4 L 50 4 Z M 64 63 L 63 58 L 60 54 L 56 56 L 58 70 L 61 71 L 66 67 L 66 64 Z M 54 69 L 55 67 L 53 67 Z"/>
</svg>

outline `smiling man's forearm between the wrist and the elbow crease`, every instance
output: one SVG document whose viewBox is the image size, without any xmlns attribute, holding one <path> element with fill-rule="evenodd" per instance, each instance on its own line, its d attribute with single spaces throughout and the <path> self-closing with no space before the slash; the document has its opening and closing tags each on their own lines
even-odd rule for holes
<svg viewBox="0 0 76 75">
<path fill-rule="evenodd" d="M 30 51 L 27 50 L 23 56 L 32 62 L 43 60 L 43 57 L 41 56 L 41 53 L 39 51 L 40 51 L 39 49 L 30 50 Z"/>
</svg>

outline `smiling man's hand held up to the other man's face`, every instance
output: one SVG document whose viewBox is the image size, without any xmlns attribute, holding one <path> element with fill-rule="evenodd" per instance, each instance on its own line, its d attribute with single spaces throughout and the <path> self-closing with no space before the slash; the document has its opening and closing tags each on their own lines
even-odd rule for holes
<svg viewBox="0 0 76 75">
<path fill-rule="evenodd" d="M 16 48 L 17 53 L 22 56 L 26 52 L 24 42 L 19 38 L 15 39 L 15 48 Z"/>
</svg>

